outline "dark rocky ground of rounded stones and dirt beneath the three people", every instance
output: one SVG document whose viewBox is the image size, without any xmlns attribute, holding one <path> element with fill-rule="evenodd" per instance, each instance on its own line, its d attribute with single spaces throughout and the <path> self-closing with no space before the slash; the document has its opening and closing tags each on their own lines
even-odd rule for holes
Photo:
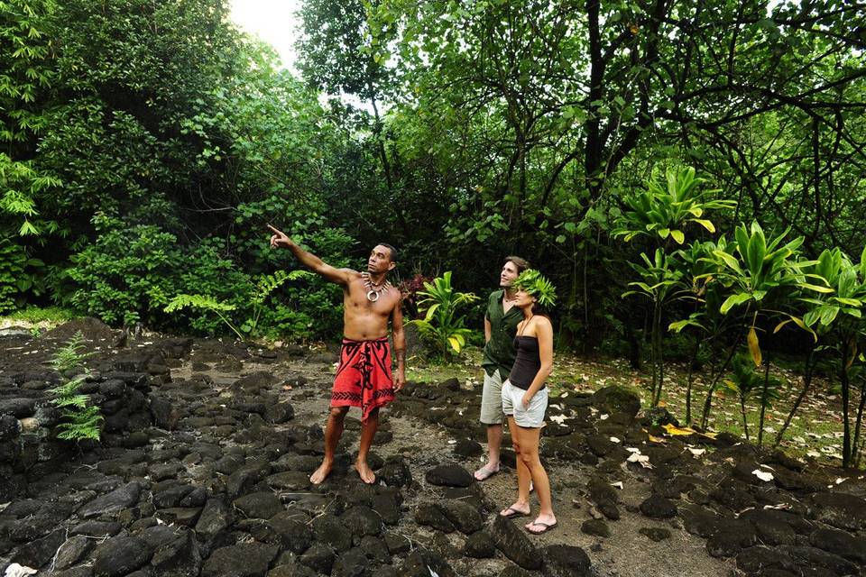
<svg viewBox="0 0 866 577">
<path fill-rule="evenodd" d="M 106 435 L 69 459 L 44 401 L 61 377 L 41 364 L 67 333 L 0 338 L 0 574 L 866 574 L 862 481 L 724 435 L 670 435 L 668 416 L 621 389 L 550 408 L 559 527 L 544 536 L 495 514 L 513 499 L 511 468 L 471 478 L 478 391 L 456 380 L 410 383 L 384 412 L 377 484 L 350 466 L 353 412 L 335 472 L 310 486 L 336 354 L 299 347 L 118 349 L 95 335 L 88 390 Z"/>
</svg>

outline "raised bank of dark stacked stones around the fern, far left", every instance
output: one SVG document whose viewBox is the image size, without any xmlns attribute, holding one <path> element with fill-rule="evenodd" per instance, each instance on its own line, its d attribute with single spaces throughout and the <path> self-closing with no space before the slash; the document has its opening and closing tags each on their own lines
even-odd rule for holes
<svg viewBox="0 0 866 577">
<path fill-rule="evenodd" d="M 75 443 L 57 438 L 60 410 L 51 403 L 50 389 L 82 374 L 62 375 L 50 368 L 52 356 L 68 338 L 46 335 L 32 339 L 6 336 L 0 361 L 0 501 L 26 491 L 27 479 L 41 476 L 82 451 L 98 446 L 134 447 L 147 442 L 144 430 L 154 414 L 164 419 L 160 398 L 152 398 L 152 386 L 171 380 L 169 364 L 189 353 L 191 339 L 139 343 L 117 348 L 125 339 L 105 325 L 85 335 L 83 352 L 89 373 L 79 391 L 88 394 L 105 421 L 101 443 Z M 107 332 L 106 332 L 107 331 Z M 67 331 L 69 332 L 69 331 Z M 119 332 L 117 332 L 119 333 Z M 65 334 L 64 334 L 65 335 Z"/>
</svg>

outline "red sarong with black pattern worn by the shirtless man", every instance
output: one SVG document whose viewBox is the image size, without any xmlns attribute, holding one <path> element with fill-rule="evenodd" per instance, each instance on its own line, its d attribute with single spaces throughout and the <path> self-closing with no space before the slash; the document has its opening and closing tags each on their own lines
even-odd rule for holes
<svg viewBox="0 0 866 577">
<path fill-rule="evenodd" d="M 343 339 L 340 366 L 336 369 L 331 407 L 360 407 L 361 422 L 374 408 L 394 399 L 391 345 L 388 338 L 375 341 Z"/>
</svg>

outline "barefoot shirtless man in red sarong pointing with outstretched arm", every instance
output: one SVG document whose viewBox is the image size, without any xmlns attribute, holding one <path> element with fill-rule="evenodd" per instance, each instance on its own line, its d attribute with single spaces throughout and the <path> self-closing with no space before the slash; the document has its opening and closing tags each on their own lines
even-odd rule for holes
<svg viewBox="0 0 866 577">
<path fill-rule="evenodd" d="M 325 458 L 309 477 L 314 484 L 325 481 L 334 466 L 336 444 L 343 435 L 349 407 L 361 408 L 361 444 L 355 469 L 365 483 L 376 479 L 367 463 L 367 452 L 379 425 L 379 408 L 391 402 L 406 381 L 406 339 L 400 291 L 388 282 L 388 271 L 396 266 L 396 250 L 377 244 L 367 259 L 367 270 L 335 269 L 302 249 L 289 236 L 268 224 L 273 248 L 287 248 L 301 264 L 331 282 L 343 286 L 343 348 L 331 391 L 330 416 L 325 429 Z M 397 378 L 392 379 L 388 319 L 391 317 Z"/>
</svg>

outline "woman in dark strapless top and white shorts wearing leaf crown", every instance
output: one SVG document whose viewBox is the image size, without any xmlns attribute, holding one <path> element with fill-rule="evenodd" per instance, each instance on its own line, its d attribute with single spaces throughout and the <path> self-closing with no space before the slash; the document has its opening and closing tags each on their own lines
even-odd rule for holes
<svg viewBox="0 0 866 577">
<path fill-rule="evenodd" d="M 527 273 L 534 281 L 521 284 Z M 553 326 L 547 316 L 539 314 L 539 300 L 552 304 L 552 294 L 543 295 L 538 279 L 543 279 L 552 292 L 552 285 L 537 270 L 521 274 L 514 286 L 518 287 L 514 306 L 523 312 L 514 338 L 517 357 L 508 380 L 502 383 L 502 408 L 508 417 L 508 428 L 514 453 L 517 454 L 517 500 L 511 507 L 500 511 L 503 517 L 530 515 L 530 484 L 539 495 L 540 510 L 536 519 L 525 527 L 533 535 L 546 533 L 557 526 L 550 497 L 550 481 L 539 459 L 539 437 L 548 404 L 545 381 L 553 369 Z"/>
</svg>

